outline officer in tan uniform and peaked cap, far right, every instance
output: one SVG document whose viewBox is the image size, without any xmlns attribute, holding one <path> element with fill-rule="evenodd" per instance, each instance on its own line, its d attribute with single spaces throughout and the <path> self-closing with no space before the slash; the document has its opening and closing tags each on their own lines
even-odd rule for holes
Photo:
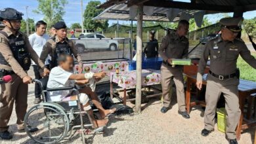
<svg viewBox="0 0 256 144">
<path fill-rule="evenodd" d="M 205 94 L 205 127 L 202 130 L 202 135 L 207 136 L 213 131 L 217 101 L 223 93 L 227 113 L 226 136 L 229 143 L 232 144 L 238 143 L 235 130 L 241 114 L 238 99 L 239 70 L 236 68 L 239 54 L 251 67 L 256 68 L 256 60 L 251 56 L 244 41 L 236 39 L 241 31 L 242 21 L 243 18 L 223 18 L 220 20 L 221 35 L 205 45 L 196 82 L 196 86 L 201 90 L 203 71 L 208 58 L 210 58 Z"/>
</svg>

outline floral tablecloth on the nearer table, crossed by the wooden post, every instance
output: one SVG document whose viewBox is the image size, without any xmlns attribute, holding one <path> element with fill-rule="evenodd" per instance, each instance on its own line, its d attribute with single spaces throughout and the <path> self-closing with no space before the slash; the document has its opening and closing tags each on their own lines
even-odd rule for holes
<svg viewBox="0 0 256 144">
<path fill-rule="evenodd" d="M 160 70 L 142 69 L 142 86 L 160 84 Z M 135 88 L 136 71 L 122 71 L 120 73 L 110 73 L 110 82 L 115 82 L 121 88 Z"/>
</svg>

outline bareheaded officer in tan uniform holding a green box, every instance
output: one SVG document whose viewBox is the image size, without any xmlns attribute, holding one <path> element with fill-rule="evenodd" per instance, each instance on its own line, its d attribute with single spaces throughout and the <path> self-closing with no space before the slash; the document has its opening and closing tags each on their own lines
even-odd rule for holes
<svg viewBox="0 0 256 144">
<path fill-rule="evenodd" d="M 163 58 L 161 65 L 161 86 L 163 90 L 163 107 L 162 113 L 166 113 L 169 109 L 170 100 L 169 88 L 171 78 L 176 85 L 177 101 L 179 105 L 178 113 L 184 118 L 190 118 L 186 113 L 185 108 L 185 96 L 184 96 L 184 84 L 182 65 L 171 65 L 173 58 L 184 58 L 188 54 L 188 39 L 185 37 L 188 33 L 189 23 L 186 20 L 181 20 L 178 24 L 178 28 L 175 32 L 169 33 L 163 38 L 158 53 Z"/>
</svg>

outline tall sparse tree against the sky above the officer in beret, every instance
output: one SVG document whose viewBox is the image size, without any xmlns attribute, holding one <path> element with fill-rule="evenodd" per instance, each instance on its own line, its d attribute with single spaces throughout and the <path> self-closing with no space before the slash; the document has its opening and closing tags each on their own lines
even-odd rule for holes
<svg viewBox="0 0 256 144">
<path fill-rule="evenodd" d="M 43 14 L 43 20 L 47 23 L 47 27 L 51 27 L 56 22 L 63 20 L 64 6 L 68 4 L 67 0 L 37 0 L 39 5 L 37 10 L 33 12 Z"/>
</svg>

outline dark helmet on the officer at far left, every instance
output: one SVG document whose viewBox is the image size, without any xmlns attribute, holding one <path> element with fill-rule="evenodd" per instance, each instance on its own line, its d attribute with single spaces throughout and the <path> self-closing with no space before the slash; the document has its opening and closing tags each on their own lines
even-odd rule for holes
<svg viewBox="0 0 256 144">
<path fill-rule="evenodd" d="M 5 8 L 0 10 L 0 21 L 3 20 L 22 20 L 23 13 L 16 9 Z"/>
</svg>

